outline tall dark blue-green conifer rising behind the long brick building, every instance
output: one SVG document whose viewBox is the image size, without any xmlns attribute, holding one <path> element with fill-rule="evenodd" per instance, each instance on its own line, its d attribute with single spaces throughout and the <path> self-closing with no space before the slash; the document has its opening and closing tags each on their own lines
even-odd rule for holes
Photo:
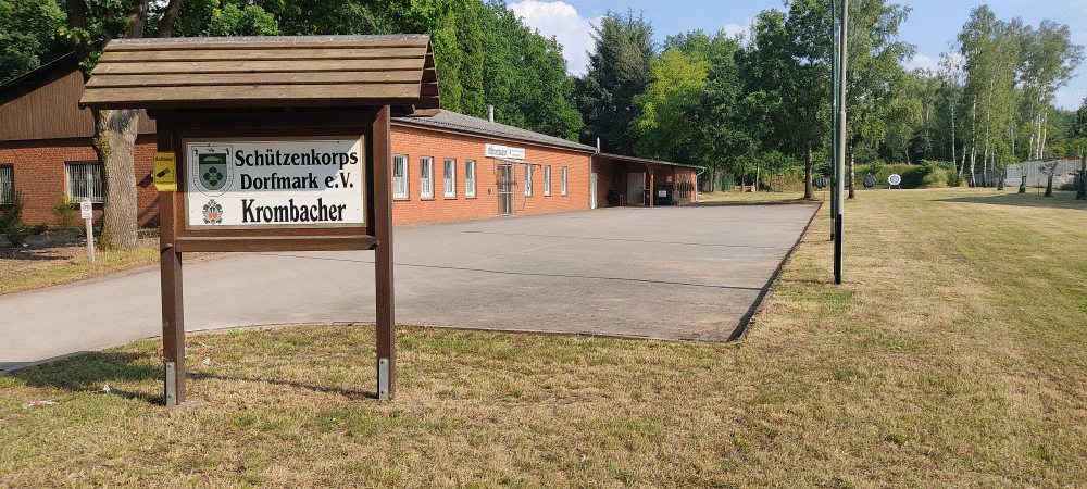
<svg viewBox="0 0 1087 489">
<path fill-rule="evenodd" d="M 575 100 L 585 121 L 580 140 L 601 139 L 604 151 L 632 154 L 630 128 L 638 117 L 634 98 L 649 83 L 655 49 L 653 28 L 640 15 L 609 12 L 592 27 L 589 70 L 576 84 Z"/>
</svg>

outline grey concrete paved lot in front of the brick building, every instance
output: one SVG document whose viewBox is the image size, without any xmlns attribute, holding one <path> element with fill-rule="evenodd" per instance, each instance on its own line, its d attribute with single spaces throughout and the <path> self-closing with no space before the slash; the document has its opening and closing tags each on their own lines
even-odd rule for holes
<svg viewBox="0 0 1087 489">
<path fill-rule="evenodd" d="M 396 230 L 401 324 L 719 341 L 813 205 L 616 208 Z M 185 263 L 186 329 L 373 322 L 373 252 Z M 0 297 L 0 369 L 161 334 L 158 267 Z"/>
</svg>

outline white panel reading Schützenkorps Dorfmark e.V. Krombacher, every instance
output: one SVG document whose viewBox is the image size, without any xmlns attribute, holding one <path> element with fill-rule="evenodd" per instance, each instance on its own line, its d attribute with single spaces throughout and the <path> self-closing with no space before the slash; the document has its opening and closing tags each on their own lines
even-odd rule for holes
<svg viewBox="0 0 1087 489">
<path fill-rule="evenodd" d="M 186 225 L 365 225 L 363 140 L 187 141 Z"/>
</svg>

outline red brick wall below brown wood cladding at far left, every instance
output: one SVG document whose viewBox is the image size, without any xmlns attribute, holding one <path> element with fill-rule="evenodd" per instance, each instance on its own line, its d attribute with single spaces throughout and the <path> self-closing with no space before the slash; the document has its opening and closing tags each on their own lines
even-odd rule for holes
<svg viewBox="0 0 1087 489">
<path fill-rule="evenodd" d="M 136 139 L 136 180 L 151 171 L 155 142 L 153 135 Z M 50 139 L 7 142 L 0 148 L 0 164 L 10 164 L 15 177 L 15 191 L 23 196 L 23 222 L 54 224 L 53 208 L 67 190 L 65 163 L 97 161 L 89 138 Z M 158 222 L 158 192 L 154 186 L 137 187 L 137 218 L 140 225 Z M 95 204 L 95 221 L 101 222 L 102 204 Z"/>
</svg>

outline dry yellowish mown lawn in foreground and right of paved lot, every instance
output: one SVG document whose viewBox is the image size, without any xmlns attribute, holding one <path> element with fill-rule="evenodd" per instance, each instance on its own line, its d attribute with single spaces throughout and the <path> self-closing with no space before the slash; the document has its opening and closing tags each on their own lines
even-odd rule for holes
<svg viewBox="0 0 1087 489">
<path fill-rule="evenodd" d="M 824 206 L 734 343 L 404 327 L 391 403 L 364 325 L 190 337 L 175 410 L 153 340 L 0 377 L 0 487 L 1087 486 L 1087 203 L 859 197 L 846 284 Z"/>
</svg>

